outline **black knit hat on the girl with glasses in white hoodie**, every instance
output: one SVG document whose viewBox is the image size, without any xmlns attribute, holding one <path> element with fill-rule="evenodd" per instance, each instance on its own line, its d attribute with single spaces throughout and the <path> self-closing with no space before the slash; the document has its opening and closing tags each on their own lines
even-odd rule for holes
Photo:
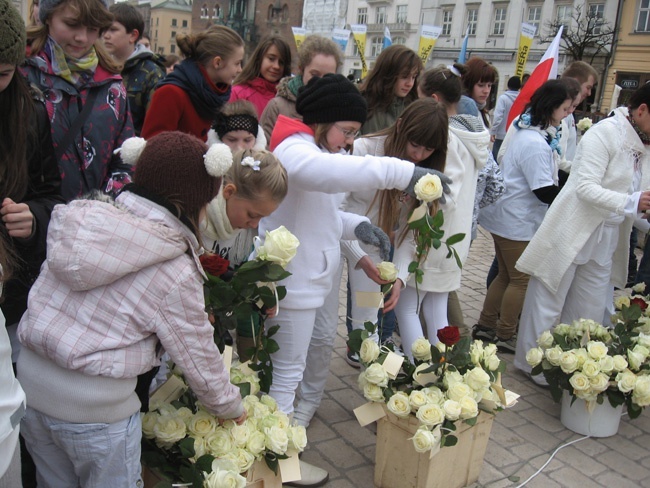
<svg viewBox="0 0 650 488">
<path fill-rule="evenodd" d="M 298 92 L 296 111 L 305 124 L 366 121 L 368 104 L 359 90 L 343 75 L 313 77 Z"/>
</svg>

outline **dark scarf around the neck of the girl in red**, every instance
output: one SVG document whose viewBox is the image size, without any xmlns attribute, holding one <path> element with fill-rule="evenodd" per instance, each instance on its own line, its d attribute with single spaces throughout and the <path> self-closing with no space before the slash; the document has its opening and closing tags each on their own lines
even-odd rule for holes
<svg viewBox="0 0 650 488">
<path fill-rule="evenodd" d="M 212 120 L 230 99 L 230 85 L 215 85 L 204 76 L 196 61 L 185 59 L 177 64 L 158 86 L 174 85 L 185 90 L 194 110 L 204 120 Z"/>
</svg>

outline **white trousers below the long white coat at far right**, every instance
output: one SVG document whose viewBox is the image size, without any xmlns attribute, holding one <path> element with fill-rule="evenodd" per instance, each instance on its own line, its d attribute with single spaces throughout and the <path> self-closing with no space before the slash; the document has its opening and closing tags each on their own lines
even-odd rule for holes
<svg viewBox="0 0 650 488">
<path fill-rule="evenodd" d="M 605 309 L 612 300 L 609 284 L 611 262 L 600 265 L 591 260 L 585 264 L 571 264 L 557 293 L 552 293 L 531 276 L 519 320 L 519 335 L 515 352 L 515 367 L 530 373 L 526 353 L 537 347 L 537 338 L 558 323 L 571 324 L 580 318 L 601 322 Z"/>
</svg>

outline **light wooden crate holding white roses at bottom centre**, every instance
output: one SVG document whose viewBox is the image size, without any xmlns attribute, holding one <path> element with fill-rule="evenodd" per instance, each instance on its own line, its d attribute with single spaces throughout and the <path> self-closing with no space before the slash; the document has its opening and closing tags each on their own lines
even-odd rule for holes
<svg viewBox="0 0 650 488">
<path fill-rule="evenodd" d="M 478 480 L 490 440 L 493 415 L 481 412 L 476 425 L 458 422 L 458 444 L 443 447 L 432 458 L 418 454 L 411 438 L 419 421 L 387 411 L 377 422 L 375 487 L 377 488 L 462 488 Z"/>
</svg>

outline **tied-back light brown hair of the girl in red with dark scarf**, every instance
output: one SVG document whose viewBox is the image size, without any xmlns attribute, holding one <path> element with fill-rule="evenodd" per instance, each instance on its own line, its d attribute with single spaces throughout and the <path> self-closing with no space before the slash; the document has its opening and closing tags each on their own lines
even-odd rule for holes
<svg viewBox="0 0 650 488">
<path fill-rule="evenodd" d="M 244 40 L 229 27 L 213 25 L 196 34 L 178 34 L 176 44 L 183 56 L 206 65 L 216 56 L 230 58 L 235 48 L 244 46 Z"/>
</svg>

